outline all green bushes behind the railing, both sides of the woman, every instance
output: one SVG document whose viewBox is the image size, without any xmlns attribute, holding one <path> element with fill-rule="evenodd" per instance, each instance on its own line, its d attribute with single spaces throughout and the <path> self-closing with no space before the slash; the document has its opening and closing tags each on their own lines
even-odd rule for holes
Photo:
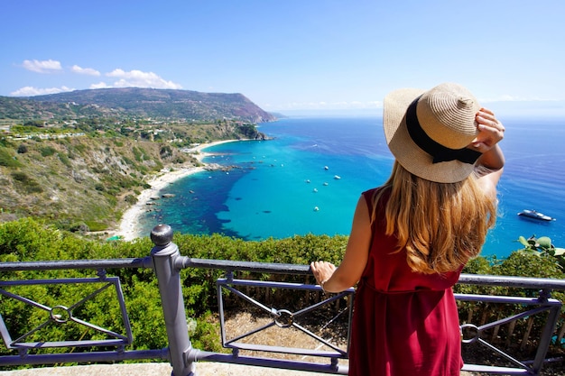
<svg viewBox="0 0 565 376">
<path fill-rule="evenodd" d="M 176 243 L 181 254 L 191 258 L 218 260 L 245 260 L 262 262 L 282 262 L 308 264 L 312 260 L 328 260 L 338 263 L 343 257 L 347 245 L 347 236 L 305 235 L 292 238 L 261 242 L 245 242 L 219 234 L 200 236 L 175 234 Z M 143 258 L 149 256 L 153 243 L 148 238 L 140 238 L 132 243 L 100 242 L 88 240 L 76 234 L 60 231 L 52 225 L 31 218 L 0 224 L 0 262 L 3 261 L 51 261 L 51 260 L 83 260 L 83 259 L 116 259 Z M 464 272 L 487 273 L 493 275 L 517 275 L 529 277 L 562 278 L 563 271 L 554 256 L 535 254 L 518 250 L 505 260 L 486 260 L 479 257 L 468 263 Z M 60 279 L 69 277 L 96 277 L 97 271 L 18 271 L 0 273 L 3 280 Z M 163 325 L 161 300 L 157 280 L 151 269 L 108 270 L 107 276 L 117 276 L 121 281 L 125 295 L 125 305 L 131 320 L 134 344 L 129 349 L 157 349 L 166 346 L 167 338 Z M 191 339 L 193 344 L 208 351 L 222 351 L 219 344 L 218 319 L 212 312 L 218 312 L 216 296 L 216 280 L 223 277 L 223 271 L 205 269 L 186 269 L 181 271 L 182 293 L 190 318 Z M 259 280 L 285 280 L 301 283 L 312 283 L 309 276 L 286 275 L 250 275 L 248 272 L 237 272 L 236 278 L 253 278 Z M 35 301 L 49 307 L 56 305 L 69 306 L 79 298 L 86 296 L 97 284 L 89 285 L 35 285 L 11 288 L 14 293 L 32 297 Z M 536 296 L 537 291 L 510 289 L 504 287 L 477 287 L 457 285 L 456 292 L 486 293 L 491 295 L 510 294 L 513 296 Z M 303 299 L 302 294 L 284 296 L 276 294 L 273 298 L 283 299 L 284 304 L 292 304 L 294 300 Z M 564 299 L 562 292 L 554 292 L 555 298 Z M 252 293 L 253 296 L 253 293 Z M 230 307 L 236 304 L 227 300 Z M 495 305 L 490 303 L 459 302 L 459 314 L 462 323 L 490 322 L 502 316 L 520 312 L 522 307 Z M 45 313 L 38 309 L 25 307 L 12 298 L 0 298 L 0 307 L 6 325 L 14 333 L 22 333 L 46 320 Z M 287 307 L 287 306 L 285 306 Z M 515 312 L 514 312 L 515 311 Z M 122 333 L 121 315 L 116 303 L 116 293 L 107 289 L 97 298 L 89 301 L 84 307 L 77 307 L 76 315 L 97 326 L 106 327 Z M 192 321 L 194 320 L 194 321 Z M 488 321 L 486 321 L 488 320 Z M 533 316 L 520 320 L 512 328 L 502 327 L 497 334 L 502 338 L 522 338 L 528 332 L 539 333 L 542 318 Z M 38 331 L 28 339 L 50 340 L 83 338 L 88 335 L 103 338 L 100 334 L 90 333 L 84 328 L 74 326 L 57 326 L 56 330 Z M 536 332 L 538 331 L 538 332 Z M 43 335 L 43 336 L 42 336 Z M 535 335 L 534 335 L 535 336 Z M 530 341 L 535 348 L 535 341 Z M 95 351 L 96 349 L 76 349 L 75 351 Z M 557 349 L 559 351 L 559 349 Z M 7 354 L 6 350 L 0 354 Z"/>
</svg>

